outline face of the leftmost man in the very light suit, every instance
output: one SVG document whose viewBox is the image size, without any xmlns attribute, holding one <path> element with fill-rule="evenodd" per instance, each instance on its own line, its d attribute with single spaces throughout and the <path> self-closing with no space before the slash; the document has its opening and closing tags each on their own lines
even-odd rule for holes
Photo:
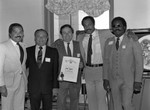
<svg viewBox="0 0 150 110">
<path fill-rule="evenodd" d="M 23 29 L 19 26 L 15 26 L 12 29 L 12 32 L 9 33 L 10 38 L 15 42 L 21 42 L 24 37 Z"/>
</svg>

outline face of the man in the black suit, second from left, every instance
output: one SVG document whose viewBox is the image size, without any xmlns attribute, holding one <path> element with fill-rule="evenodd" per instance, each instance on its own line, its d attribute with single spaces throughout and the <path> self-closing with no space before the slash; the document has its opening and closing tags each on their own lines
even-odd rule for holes
<svg viewBox="0 0 150 110">
<path fill-rule="evenodd" d="M 44 31 L 38 31 L 35 34 L 35 44 L 39 46 L 44 46 L 47 43 L 48 36 Z"/>
</svg>

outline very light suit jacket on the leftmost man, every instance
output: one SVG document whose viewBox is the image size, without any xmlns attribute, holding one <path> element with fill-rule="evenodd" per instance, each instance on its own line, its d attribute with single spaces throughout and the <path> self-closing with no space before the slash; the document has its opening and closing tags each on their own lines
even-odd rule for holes
<svg viewBox="0 0 150 110">
<path fill-rule="evenodd" d="M 24 58 L 21 64 L 20 57 L 11 40 L 0 44 L 0 86 L 6 85 L 7 88 L 15 90 L 19 87 L 20 81 L 26 79 L 26 50 L 23 43 L 20 43 L 24 51 Z"/>
</svg>

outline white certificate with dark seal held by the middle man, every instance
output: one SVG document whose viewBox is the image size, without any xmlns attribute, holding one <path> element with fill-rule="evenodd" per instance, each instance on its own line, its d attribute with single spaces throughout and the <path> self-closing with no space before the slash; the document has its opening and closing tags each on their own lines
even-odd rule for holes
<svg viewBox="0 0 150 110">
<path fill-rule="evenodd" d="M 80 58 L 64 56 L 59 81 L 77 82 Z"/>
</svg>

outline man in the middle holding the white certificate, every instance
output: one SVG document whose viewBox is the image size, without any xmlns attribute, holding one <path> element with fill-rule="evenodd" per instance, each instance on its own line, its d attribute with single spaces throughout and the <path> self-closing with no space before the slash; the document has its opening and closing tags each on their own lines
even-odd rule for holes
<svg viewBox="0 0 150 110">
<path fill-rule="evenodd" d="M 77 82 L 59 81 L 58 91 L 58 110 L 68 110 L 66 107 L 66 98 L 69 95 L 70 108 L 69 110 L 78 110 L 79 93 L 81 88 L 81 69 L 83 68 L 83 62 L 81 57 L 79 42 L 73 41 L 74 30 L 69 24 L 65 24 L 60 28 L 60 34 L 62 39 L 56 40 L 52 43 L 52 47 L 57 48 L 59 52 L 59 72 L 62 66 L 63 56 L 78 57 L 80 58 L 79 72 Z M 67 49 L 69 44 L 70 52 Z M 70 55 L 69 55 L 70 53 Z"/>
</svg>

